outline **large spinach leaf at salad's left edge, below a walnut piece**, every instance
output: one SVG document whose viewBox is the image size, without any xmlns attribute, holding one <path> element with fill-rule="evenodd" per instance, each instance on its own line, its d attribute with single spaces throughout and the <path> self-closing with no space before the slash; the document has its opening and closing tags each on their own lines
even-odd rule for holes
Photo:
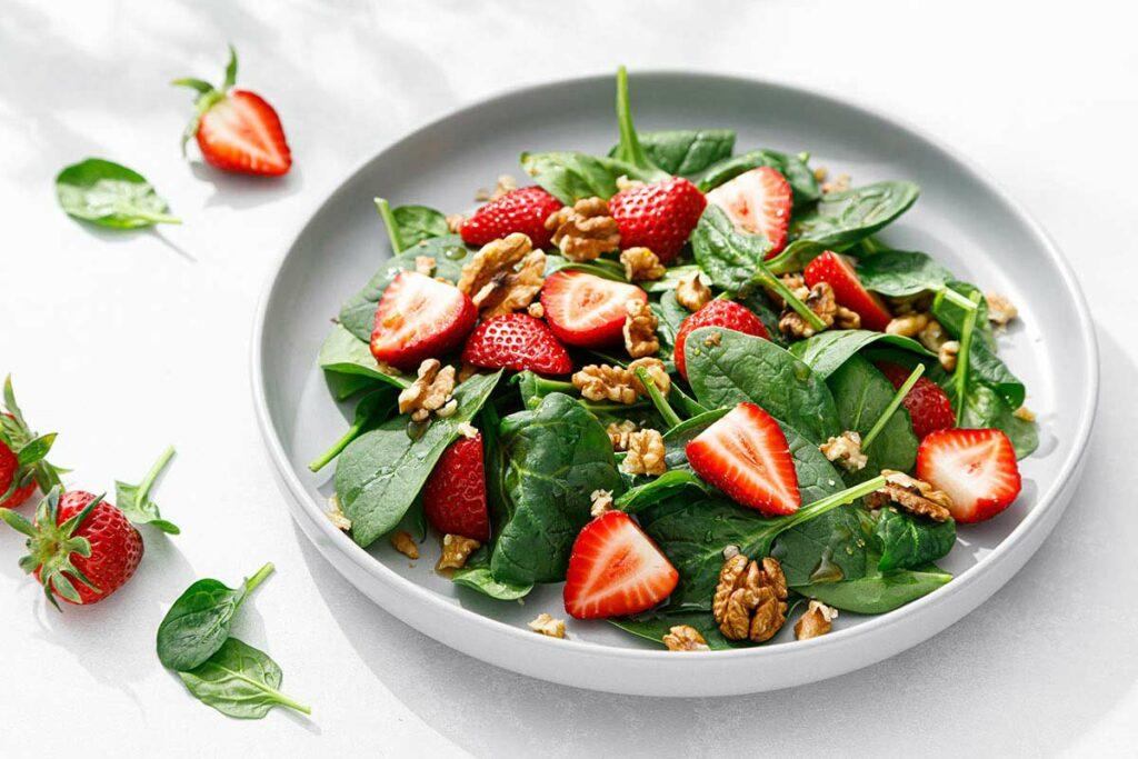
<svg viewBox="0 0 1138 759">
<path fill-rule="evenodd" d="M 333 481 L 340 509 L 352 520 L 352 537 L 357 544 L 366 547 L 399 523 L 438 457 L 457 438 L 459 424 L 475 418 L 501 377 L 500 370 L 476 374 L 459 385 L 454 391 L 457 411 L 432 420 L 414 439 L 409 435 L 407 418 L 399 415 L 357 437 L 344 449 L 336 463 Z"/>
</svg>

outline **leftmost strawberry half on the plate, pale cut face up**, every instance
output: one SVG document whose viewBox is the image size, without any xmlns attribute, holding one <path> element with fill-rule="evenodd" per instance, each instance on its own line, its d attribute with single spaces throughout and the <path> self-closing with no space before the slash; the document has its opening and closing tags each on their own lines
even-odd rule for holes
<svg viewBox="0 0 1138 759">
<path fill-rule="evenodd" d="M 478 308 L 459 288 L 419 272 L 399 272 L 376 307 L 371 355 L 414 371 L 423 358 L 459 347 L 476 321 Z"/>
</svg>

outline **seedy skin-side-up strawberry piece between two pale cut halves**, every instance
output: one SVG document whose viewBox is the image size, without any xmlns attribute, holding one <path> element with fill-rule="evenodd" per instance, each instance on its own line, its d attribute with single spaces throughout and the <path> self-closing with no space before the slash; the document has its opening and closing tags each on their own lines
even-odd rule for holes
<svg viewBox="0 0 1138 759">
<path fill-rule="evenodd" d="M 484 369 L 526 369 L 539 374 L 572 371 L 569 352 L 541 320 L 529 314 L 503 314 L 473 331 L 462 349 L 462 362 Z"/>
</svg>

